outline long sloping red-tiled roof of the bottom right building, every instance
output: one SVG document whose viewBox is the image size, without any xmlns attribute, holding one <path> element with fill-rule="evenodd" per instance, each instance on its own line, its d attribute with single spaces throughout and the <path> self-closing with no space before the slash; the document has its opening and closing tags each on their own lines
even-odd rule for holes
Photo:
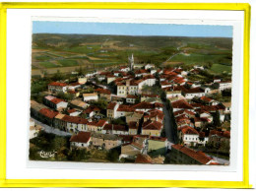
<svg viewBox="0 0 256 191">
<path fill-rule="evenodd" d="M 194 150 L 191 150 L 185 146 L 181 145 L 172 145 L 171 146 L 173 149 L 189 156 L 192 159 L 195 159 L 199 161 L 202 164 L 208 163 L 212 158 L 207 157 L 203 152 L 196 152 Z"/>
</svg>

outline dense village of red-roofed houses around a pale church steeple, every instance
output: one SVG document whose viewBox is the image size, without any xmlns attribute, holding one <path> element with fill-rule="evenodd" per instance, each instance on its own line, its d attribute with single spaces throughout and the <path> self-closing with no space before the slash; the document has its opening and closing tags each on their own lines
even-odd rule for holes
<svg viewBox="0 0 256 191">
<path fill-rule="evenodd" d="M 109 162 L 229 164 L 230 80 L 210 78 L 200 64 L 158 67 L 133 55 L 122 66 L 73 73 L 76 82 L 52 81 L 31 100 L 31 140 L 41 131 L 68 136 L 69 150 L 93 162 L 104 152 Z"/>
</svg>

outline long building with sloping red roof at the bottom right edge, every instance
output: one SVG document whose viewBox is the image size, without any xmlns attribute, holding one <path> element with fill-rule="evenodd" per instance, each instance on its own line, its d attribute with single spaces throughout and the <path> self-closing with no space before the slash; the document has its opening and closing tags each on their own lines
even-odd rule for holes
<svg viewBox="0 0 256 191">
<path fill-rule="evenodd" d="M 185 146 L 171 146 L 171 163 L 176 164 L 211 164 L 216 162 L 201 151 L 194 151 Z"/>
</svg>

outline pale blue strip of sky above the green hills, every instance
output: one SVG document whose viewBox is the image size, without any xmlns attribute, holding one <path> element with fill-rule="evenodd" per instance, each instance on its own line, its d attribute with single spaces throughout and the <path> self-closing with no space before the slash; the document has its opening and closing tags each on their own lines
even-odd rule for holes
<svg viewBox="0 0 256 191">
<path fill-rule="evenodd" d="M 33 21 L 33 33 L 232 37 L 231 26 Z"/>
</svg>

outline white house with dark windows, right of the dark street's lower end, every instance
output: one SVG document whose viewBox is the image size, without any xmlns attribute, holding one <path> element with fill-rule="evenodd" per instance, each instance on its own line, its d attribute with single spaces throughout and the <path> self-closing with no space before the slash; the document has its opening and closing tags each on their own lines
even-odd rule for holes
<svg viewBox="0 0 256 191">
<path fill-rule="evenodd" d="M 196 129 L 190 126 L 185 126 L 179 129 L 179 139 L 185 146 L 196 146 L 199 142 L 199 133 Z"/>
</svg>

